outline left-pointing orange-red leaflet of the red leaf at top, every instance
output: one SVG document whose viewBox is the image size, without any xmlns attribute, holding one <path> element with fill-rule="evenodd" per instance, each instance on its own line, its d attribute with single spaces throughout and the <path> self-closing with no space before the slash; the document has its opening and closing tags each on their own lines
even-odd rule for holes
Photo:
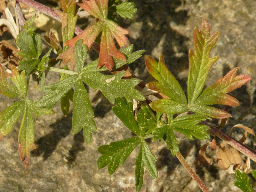
<svg viewBox="0 0 256 192">
<path fill-rule="evenodd" d="M 84 31 L 81 34 L 79 34 L 78 36 L 66 41 L 65 46 L 74 47 L 76 42 L 79 39 L 83 39 L 83 44 L 86 44 L 88 47 L 88 50 L 89 50 L 91 48 L 94 40 L 97 38 L 99 33 L 102 31 L 103 26 L 104 26 L 104 22 L 101 20 L 92 24 L 90 27 L 84 29 Z"/>
</svg>

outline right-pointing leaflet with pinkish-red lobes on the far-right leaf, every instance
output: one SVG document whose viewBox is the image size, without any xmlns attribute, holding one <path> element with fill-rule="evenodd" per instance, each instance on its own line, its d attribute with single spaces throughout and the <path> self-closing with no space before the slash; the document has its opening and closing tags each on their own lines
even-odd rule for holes
<svg viewBox="0 0 256 192">
<path fill-rule="evenodd" d="M 230 70 L 224 77 L 220 77 L 216 83 L 205 89 L 196 99 L 195 103 L 200 105 L 224 104 L 238 106 L 239 101 L 226 94 L 251 80 L 248 75 L 237 75 L 238 68 Z"/>
</svg>

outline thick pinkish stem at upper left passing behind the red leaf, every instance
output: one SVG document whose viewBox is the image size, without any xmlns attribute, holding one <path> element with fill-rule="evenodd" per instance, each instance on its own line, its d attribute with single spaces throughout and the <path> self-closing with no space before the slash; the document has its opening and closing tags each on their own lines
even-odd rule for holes
<svg viewBox="0 0 256 192">
<path fill-rule="evenodd" d="M 33 0 L 16 0 L 16 2 L 23 3 L 29 7 L 33 8 L 37 11 L 40 11 L 40 12 L 44 13 L 45 15 L 48 15 L 48 16 L 52 17 L 53 19 L 56 19 L 61 22 L 60 15 L 54 9 L 52 9 L 50 7 L 47 7 L 47 6 L 40 4 Z M 79 35 L 82 32 L 83 32 L 83 30 L 76 26 L 76 28 L 75 28 L 76 35 Z M 98 53 L 100 52 L 100 45 L 97 44 L 96 42 L 94 42 L 92 44 L 92 48 L 95 51 L 97 51 Z"/>
</svg>

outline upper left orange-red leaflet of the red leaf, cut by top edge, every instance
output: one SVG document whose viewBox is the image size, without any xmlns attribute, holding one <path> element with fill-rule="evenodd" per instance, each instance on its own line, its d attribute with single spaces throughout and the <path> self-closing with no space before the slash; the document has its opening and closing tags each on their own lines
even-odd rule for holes
<svg viewBox="0 0 256 192">
<path fill-rule="evenodd" d="M 107 19 L 108 16 L 108 0 L 85 0 L 78 3 L 85 11 L 98 19 Z"/>
</svg>

